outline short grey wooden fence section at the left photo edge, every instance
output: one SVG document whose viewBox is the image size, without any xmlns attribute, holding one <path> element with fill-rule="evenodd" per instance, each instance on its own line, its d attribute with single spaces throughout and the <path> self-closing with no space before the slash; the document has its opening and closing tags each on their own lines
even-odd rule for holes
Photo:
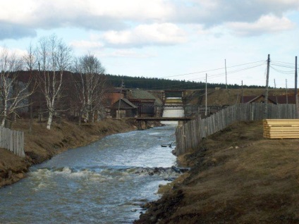
<svg viewBox="0 0 299 224">
<path fill-rule="evenodd" d="M 18 156 L 25 157 L 24 132 L 0 127 L 0 148 L 8 149 Z"/>
</svg>

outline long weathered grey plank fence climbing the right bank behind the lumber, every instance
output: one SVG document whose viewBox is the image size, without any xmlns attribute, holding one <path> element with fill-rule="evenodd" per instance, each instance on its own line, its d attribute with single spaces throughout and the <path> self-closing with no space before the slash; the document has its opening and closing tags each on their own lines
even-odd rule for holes
<svg viewBox="0 0 299 224">
<path fill-rule="evenodd" d="M 223 130 L 228 125 L 241 120 L 262 120 L 264 104 L 236 104 L 228 106 L 208 118 L 190 120 L 176 128 L 176 155 L 193 151 L 202 138 Z M 295 104 L 268 104 L 269 119 L 295 119 L 298 112 Z"/>
</svg>

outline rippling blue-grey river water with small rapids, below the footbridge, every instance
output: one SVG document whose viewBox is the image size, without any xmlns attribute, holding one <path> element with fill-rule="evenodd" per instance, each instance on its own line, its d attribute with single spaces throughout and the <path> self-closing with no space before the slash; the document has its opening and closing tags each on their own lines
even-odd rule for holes
<svg viewBox="0 0 299 224">
<path fill-rule="evenodd" d="M 0 189 L 0 223 L 133 223 L 176 178 L 175 126 L 111 135 L 30 168 Z M 159 168 L 159 169 L 157 169 Z"/>
</svg>

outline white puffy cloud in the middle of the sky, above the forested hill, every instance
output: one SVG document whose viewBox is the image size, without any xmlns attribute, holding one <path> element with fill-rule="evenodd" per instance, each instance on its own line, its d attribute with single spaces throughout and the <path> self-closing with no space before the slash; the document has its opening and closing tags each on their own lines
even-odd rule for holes
<svg viewBox="0 0 299 224">
<path fill-rule="evenodd" d="M 171 45 L 186 42 L 185 32 L 171 23 L 138 25 L 133 30 L 109 31 L 103 39 L 112 46 Z"/>
</svg>

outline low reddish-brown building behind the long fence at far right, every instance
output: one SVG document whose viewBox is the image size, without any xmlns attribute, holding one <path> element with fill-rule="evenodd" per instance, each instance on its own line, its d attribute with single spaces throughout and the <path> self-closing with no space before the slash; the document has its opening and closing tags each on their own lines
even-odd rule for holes
<svg viewBox="0 0 299 224">
<path fill-rule="evenodd" d="M 240 103 L 264 103 L 264 94 L 260 96 L 244 96 L 240 98 Z M 294 95 L 279 95 L 279 96 L 269 96 L 268 104 L 295 104 Z"/>
</svg>

